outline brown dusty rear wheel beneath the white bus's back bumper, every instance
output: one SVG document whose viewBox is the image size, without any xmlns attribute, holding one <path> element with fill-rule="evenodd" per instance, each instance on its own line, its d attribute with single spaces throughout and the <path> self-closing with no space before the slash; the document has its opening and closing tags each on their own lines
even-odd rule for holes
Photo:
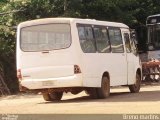
<svg viewBox="0 0 160 120">
<path fill-rule="evenodd" d="M 45 101 L 59 101 L 62 99 L 63 92 L 42 93 Z"/>
</svg>

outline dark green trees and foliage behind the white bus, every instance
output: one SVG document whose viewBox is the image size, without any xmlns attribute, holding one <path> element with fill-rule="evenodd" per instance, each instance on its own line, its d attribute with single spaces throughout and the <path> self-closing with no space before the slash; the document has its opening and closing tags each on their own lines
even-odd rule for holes
<svg viewBox="0 0 160 120">
<path fill-rule="evenodd" d="M 0 80 L 11 94 L 18 92 L 15 44 L 20 22 L 46 17 L 123 22 L 136 29 L 139 48 L 145 50 L 146 18 L 159 13 L 159 0 L 0 0 Z"/>
</svg>

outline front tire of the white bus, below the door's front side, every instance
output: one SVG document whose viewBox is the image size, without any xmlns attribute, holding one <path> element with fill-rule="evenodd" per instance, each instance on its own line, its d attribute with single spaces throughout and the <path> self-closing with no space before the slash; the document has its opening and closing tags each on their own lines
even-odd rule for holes
<svg viewBox="0 0 160 120">
<path fill-rule="evenodd" d="M 133 85 L 129 85 L 129 90 L 131 93 L 138 93 L 141 86 L 141 77 L 138 73 L 136 73 L 136 83 Z"/>
</svg>

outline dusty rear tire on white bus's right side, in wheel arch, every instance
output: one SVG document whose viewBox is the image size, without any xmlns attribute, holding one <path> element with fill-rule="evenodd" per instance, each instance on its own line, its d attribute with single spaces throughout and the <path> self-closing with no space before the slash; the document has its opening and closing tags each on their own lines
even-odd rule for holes
<svg viewBox="0 0 160 120">
<path fill-rule="evenodd" d="M 104 99 L 110 95 L 110 80 L 107 76 L 102 77 L 101 87 L 97 88 L 98 98 Z"/>
</svg>

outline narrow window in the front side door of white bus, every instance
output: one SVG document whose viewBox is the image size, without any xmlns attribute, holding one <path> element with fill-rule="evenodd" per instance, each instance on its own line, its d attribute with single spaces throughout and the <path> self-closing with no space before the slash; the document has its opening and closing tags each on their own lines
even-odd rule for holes
<svg viewBox="0 0 160 120">
<path fill-rule="evenodd" d="M 124 42 L 125 42 L 126 52 L 130 53 L 132 51 L 132 49 L 131 49 L 129 34 L 128 33 L 124 33 L 123 35 L 124 35 Z"/>
</svg>

